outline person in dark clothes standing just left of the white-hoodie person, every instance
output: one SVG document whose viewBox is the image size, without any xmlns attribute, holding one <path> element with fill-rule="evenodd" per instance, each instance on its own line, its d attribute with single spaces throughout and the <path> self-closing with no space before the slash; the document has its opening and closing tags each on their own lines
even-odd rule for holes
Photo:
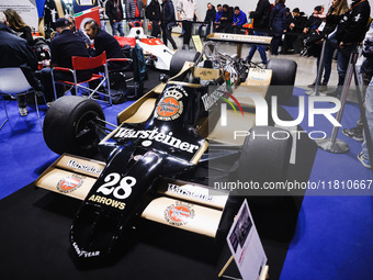
<svg viewBox="0 0 373 280">
<path fill-rule="evenodd" d="M 176 51 L 178 49 L 178 46 L 171 36 L 172 27 L 177 25 L 177 20 L 174 18 L 173 3 L 171 0 L 162 0 L 161 7 L 162 7 L 161 27 L 162 27 L 163 44 L 167 46 L 167 41 L 170 41 L 173 47 L 173 51 Z"/>
</svg>

